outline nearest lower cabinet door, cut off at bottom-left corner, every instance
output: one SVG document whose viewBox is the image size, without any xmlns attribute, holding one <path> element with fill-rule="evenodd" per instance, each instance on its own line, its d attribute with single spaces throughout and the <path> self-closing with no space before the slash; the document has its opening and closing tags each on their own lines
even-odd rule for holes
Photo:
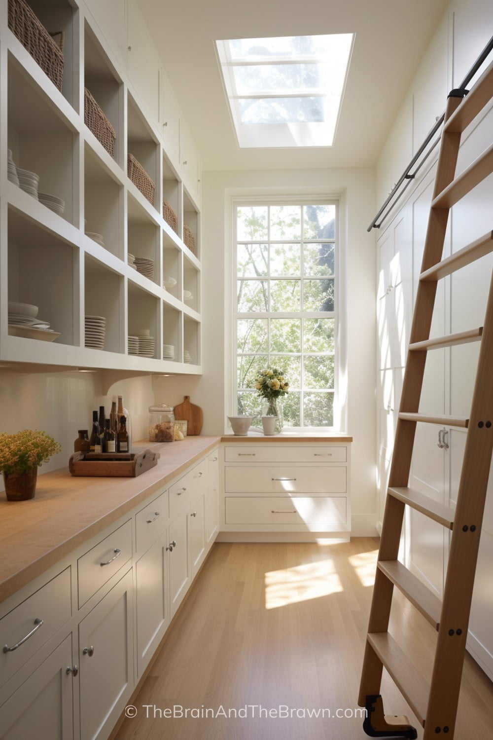
<svg viewBox="0 0 493 740">
<path fill-rule="evenodd" d="M 72 740 L 72 635 L 0 708 L 1 740 Z"/>
</svg>

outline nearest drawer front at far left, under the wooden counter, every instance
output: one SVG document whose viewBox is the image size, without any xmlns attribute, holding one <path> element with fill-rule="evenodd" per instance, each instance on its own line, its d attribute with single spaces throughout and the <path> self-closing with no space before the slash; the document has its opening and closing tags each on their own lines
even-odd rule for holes
<svg viewBox="0 0 493 740">
<path fill-rule="evenodd" d="M 66 568 L 0 620 L 0 645 L 9 648 L 0 652 L 0 683 L 10 679 L 71 614 L 70 568 Z"/>
</svg>

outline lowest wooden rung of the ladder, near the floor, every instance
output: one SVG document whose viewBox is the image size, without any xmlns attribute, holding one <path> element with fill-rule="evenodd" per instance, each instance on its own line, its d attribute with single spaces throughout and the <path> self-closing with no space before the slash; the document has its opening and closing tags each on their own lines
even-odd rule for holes
<svg viewBox="0 0 493 740">
<path fill-rule="evenodd" d="M 424 727 L 429 687 L 425 685 L 422 671 L 415 667 L 388 632 L 370 632 L 367 640 Z"/>
</svg>

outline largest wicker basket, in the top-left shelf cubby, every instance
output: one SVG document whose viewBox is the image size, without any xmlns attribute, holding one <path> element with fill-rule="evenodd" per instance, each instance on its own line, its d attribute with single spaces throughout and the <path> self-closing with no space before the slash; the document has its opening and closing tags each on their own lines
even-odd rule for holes
<svg viewBox="0 0 493 740">
<path fill-rule="evenodd" d="M 8 26 L 52 83 L 61 90 L 64 74 L 64 33 L 52 36 L 24 0 L 9 0 Z"/>
</svg>

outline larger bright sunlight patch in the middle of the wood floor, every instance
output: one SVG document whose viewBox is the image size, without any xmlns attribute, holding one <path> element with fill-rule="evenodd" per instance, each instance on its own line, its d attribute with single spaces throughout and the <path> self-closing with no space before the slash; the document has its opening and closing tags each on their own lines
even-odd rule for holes
<svg viewBox="0 0 493 740">
<path fill-rule="evenodd" d="M 309 562 L 265 573 L 265 608 L 276 609 L 343 590 L 332 560 Z"/>
</svg>

